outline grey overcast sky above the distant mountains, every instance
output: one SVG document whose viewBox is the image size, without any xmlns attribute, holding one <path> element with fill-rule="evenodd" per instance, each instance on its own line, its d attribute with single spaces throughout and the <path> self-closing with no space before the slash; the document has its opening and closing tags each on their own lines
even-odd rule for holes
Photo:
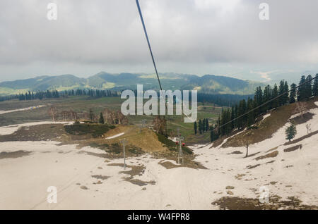
<svg viewBox="0 0 318 224">
<path fill-rule="evenodd" d="M 57 20 L 47 4 L 57 4 Z M 259 4 L 269 20 L 259 20 Z M 317 0 L 140 0 L 161 73 L 318 70 Z M 0 81 L 37 75 L 153 73 L 134 0 L 1 0 Z"/>
</svg>

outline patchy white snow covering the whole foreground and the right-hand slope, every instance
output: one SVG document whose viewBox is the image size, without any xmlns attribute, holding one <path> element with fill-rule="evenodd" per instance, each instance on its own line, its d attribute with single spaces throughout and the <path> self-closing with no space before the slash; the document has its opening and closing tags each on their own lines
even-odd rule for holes
<svg viewBox="0 0 318 224">
<path fill-rule="evenodd" d="M 310 113 L 314 117 L 307 123 L 314 132 L 318 108 Z M 307 135 L 307 123 L 297 125 L 295 139 Z M 100 149 L 50 141 L 0 142 L 0 209 L 218 209 L 211 202 L 227 196 L 257 199 L 263 186 L 270 197 L 298 197 L 303 204 L 317 206 L 318 134 L 283 145 L 288 125 L 271 139 L 251 145 L 249 155 L 255 155 L 247 158 L 245 147 L 192 147 L 196 161 L 206 169 L 167 169 L 158 164 L 163 159 L 148 154 L 127 158 L 129 166 L 144 166 L 134 179 L 153 183 L 148 185 L 124 180 L 130 175 L 117 166 L 122 159 L 105 159 Z M 299 144 L 301 149 L 284 151 Z M 276 157 L 255 160 L 273 151 L 278 151 Z M 56 204 L 47 202 L 49 186 L 57 187 Z"/>
</svg>

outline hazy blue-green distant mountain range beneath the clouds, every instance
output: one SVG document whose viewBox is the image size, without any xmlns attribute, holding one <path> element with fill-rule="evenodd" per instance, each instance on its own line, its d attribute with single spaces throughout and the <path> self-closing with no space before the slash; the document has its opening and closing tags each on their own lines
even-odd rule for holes
<svg viewBox="0 0 318 224">
<path fill-rule="evenodd" d="M 199 92 L 210 94 L 253 94 L 258 86 L 264 86 L 262 82 L 240 80 L 233 77 L 218 75 L 187 75 L 175 73 L 160 74 L 163 89 L 197 89 Z M 88 78 L 79 78 L 75 75 L 39 76 L 25 80 L 0 82 L 0 96 L 57 89 L 89 88 L 89 89 L 136 89 L 137 84 L 142 84 L 143 89 L 158 90 L 158 80 L 155 75 L 136 73 L 98 73 Z"/>
</svg>

